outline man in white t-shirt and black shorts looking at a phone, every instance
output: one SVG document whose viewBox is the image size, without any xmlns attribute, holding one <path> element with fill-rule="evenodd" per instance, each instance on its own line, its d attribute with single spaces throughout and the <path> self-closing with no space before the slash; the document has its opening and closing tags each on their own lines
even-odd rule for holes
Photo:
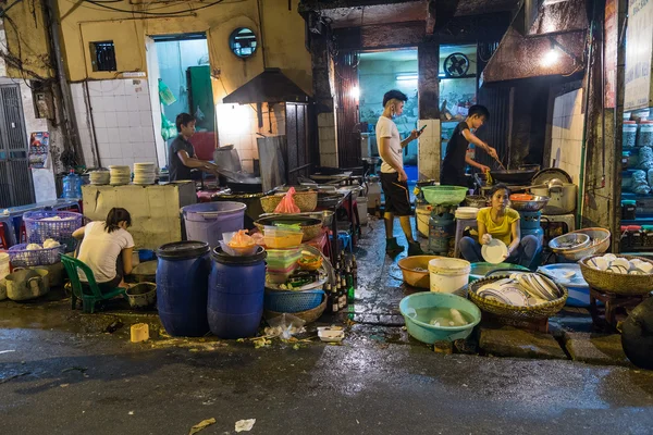
<svg viewBox="0 0 653 435">
<path fill-rule="evenodd" d="M 410 194 L 406 172 L 404 171 L 404 158 L 402 151 L 412 140 L 417 139 L 421 132 L 414 129 L 406 139 L 402 140 L 396 124 L 392 121 L 395 116 L 401 116 L 404 111 L 404 104 L 408 97 L 402 91 L 391 90 L 383 96 L 383 113 L 377 122 L 377 144 L 379 154 L 383 163 L 381 164 L 381 187 L 385 196 L 385 252 L 393 256 L 402 252 L 404 247 L 397 244 L 396 237 L 393 237 L 394 216 L 399 216 L 402 229 L 408 240 L 408 256 L 422 254 L 419 243 L 412 238 L 412 228 L 410 226 Z"/>
</svg>

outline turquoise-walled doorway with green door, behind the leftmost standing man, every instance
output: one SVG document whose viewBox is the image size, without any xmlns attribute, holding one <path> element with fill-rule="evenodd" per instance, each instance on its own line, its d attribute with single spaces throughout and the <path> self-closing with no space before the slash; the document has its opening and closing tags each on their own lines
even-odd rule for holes
<svg viewBox="0 0 653 435">
<path fill-rule="evenodd" d="M 215 104 L 206 34 L 151 36 L 147 49 L 159 165 L 168 165 L 168 146 L 176 137 L 180 113 L 195 116 L 190 142 L 199 159 L 212 160 Z"/>
</svg>

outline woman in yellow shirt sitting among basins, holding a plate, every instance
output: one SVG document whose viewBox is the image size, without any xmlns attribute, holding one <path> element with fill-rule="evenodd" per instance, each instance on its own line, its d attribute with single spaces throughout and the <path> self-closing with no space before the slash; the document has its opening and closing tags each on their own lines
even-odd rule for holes
<svg viewBox="0 0 653 435">
<path fill-rule="evenodd" d="M 535 236 L 521 237 L 519 212 L 508 207 L 510 190 L 497 184 L 490 192 L 492 206 L 481 209 L 477 215 L 479 241 L 471 237 L 463 237 L 460 252 L 471 262 L 483 261 L 481 245 L 488 245 L 493 238 L 502 240 L 508 247 L 504 262 L 532 268 L 533 259 L 542 250 L 542 244 Z"/>
</svg>

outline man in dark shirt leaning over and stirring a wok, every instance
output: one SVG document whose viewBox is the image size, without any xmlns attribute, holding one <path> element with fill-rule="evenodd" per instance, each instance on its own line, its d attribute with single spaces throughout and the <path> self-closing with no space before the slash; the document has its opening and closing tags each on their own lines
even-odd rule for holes
<svg viewBox="0 0 653 435">
<path fill-rule="evenodd" d="M 469 108 L 467 119 L 456 126 L 446 146 L 446 154 L 440 174 L 441 185 L 468 187 L 465 177 L 466 164 L 478 167 L 481 172 L 490 171 L 490 167 L 477 163 L 467 156 L 469 144 L 473 144 L 483 149 L 491 158 L 496 159 L 496 150 L 471 133 L 471 129 L 477 130 L 489 119 L 490 112 L 484 105 Z"/>
</svg>

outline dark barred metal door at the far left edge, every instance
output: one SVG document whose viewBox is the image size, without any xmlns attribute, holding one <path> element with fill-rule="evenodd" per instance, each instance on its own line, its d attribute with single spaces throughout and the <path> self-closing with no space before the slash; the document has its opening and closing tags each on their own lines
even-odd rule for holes
<svg viewBox="0 0 653 435">
<path fill-rule="evenodd" d="M 19 85 L 0 85 L 0 209 L 35 201 Z"/>
</svg>

